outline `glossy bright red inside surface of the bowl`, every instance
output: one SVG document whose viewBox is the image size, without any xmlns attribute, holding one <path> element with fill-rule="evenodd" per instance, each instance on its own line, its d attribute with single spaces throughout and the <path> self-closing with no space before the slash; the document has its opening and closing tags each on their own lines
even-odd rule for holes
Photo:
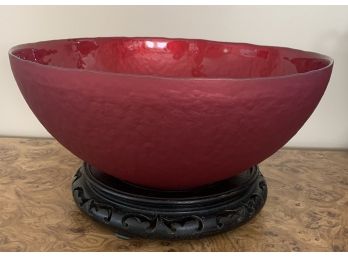
<svg viewBox="0 0 348 257">
<path fill-rule="evenodd" d="M 320 54 L 290 48 L 167 38 L 54 40 L 21 45 L 11 53 L 63 68 L 182 78 L 283 76 L 330 63 Z"/>
</svg>

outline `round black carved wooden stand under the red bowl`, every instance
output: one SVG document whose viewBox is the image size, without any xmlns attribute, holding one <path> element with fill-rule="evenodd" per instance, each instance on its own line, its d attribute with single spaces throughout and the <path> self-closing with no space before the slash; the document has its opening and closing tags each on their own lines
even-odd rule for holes
<svg viewBox="0 0 348 257">
<path fill-rule="evenodd" d="M 258 166 L 188 191 L 161 191 L 117 180 L 84 165 L 72 183 L 87 215 L 124 237 L 186 239 L 234 229 L 263 207 L 267 185 Z"/>
</svg>

